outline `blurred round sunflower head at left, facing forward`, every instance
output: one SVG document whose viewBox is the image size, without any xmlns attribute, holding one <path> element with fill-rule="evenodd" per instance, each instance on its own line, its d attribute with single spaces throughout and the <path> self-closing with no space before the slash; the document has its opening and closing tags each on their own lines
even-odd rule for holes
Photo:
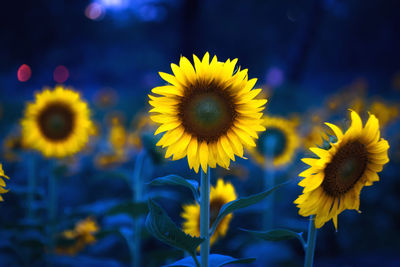
<svg viewBox="0 0 400 267">
<path fill-rule="evenodd" d="M 62 158 L 80 151 L 88 142 L 92 122 L 79 93 L 62 86 L 45 88 L 29 103 L 22 119 L 22 137 L 46 157 Z"/>
</svg>

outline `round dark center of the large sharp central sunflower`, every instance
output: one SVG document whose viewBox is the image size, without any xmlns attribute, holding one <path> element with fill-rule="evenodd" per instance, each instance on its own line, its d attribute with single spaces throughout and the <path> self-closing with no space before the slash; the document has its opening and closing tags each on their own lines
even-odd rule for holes
<svg viewBox="0 0 400 267">
<path fill-rule="evenodd" d="M 227 133 L 236 117 L 228 88 L 215 82 L 198 81 L 186 88 L 179 104 L 179 117 L 186 131 L 199 141 L 212 142 Z"/>
</svg>

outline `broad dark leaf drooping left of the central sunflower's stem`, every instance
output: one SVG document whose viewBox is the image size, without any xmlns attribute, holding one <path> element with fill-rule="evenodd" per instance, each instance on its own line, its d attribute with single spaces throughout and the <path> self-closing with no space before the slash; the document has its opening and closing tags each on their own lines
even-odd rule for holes
<svg viewBox="0 0 400 267">
<path fill-rule="evenodd" d="M 147 230 L 158 240 L 174 248 L 195 254 L 203 238 L 192 237 L 179 229 L 167 213 L 153 200 L 149 200 L 149 215 L 146 219 Z"/>
</svg>

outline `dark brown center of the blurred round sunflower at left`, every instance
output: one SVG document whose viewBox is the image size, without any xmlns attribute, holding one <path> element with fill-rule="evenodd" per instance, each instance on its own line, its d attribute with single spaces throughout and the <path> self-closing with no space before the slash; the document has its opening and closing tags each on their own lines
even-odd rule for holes
<svg viewBox="0 0 400 267">
<path fill-rule="evenodd" d="M 73 131 L 75 116 L 63 103 L 52 103 L 45 107 L 38 117 L 42 134 L 53 141 L 66 139 Z"/>
</svg>

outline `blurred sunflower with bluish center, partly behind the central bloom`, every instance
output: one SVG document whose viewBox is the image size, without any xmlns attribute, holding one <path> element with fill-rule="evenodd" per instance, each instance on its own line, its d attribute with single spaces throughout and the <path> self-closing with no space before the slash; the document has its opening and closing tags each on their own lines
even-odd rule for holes
<svg viewBox="0 0 400 267">
<path fill-rule="evenodd" d="M 274 167 L 289 163 L 300 143 L 297 123 L 281 117 L 265 117 L 262 125 L 267 130 L 258 138 L 257 146 L 249 149 L 250 155 L 261 166 L 266 162 Z M 272 151 L 268 151 L 271 145 Z"/>
</svg>

